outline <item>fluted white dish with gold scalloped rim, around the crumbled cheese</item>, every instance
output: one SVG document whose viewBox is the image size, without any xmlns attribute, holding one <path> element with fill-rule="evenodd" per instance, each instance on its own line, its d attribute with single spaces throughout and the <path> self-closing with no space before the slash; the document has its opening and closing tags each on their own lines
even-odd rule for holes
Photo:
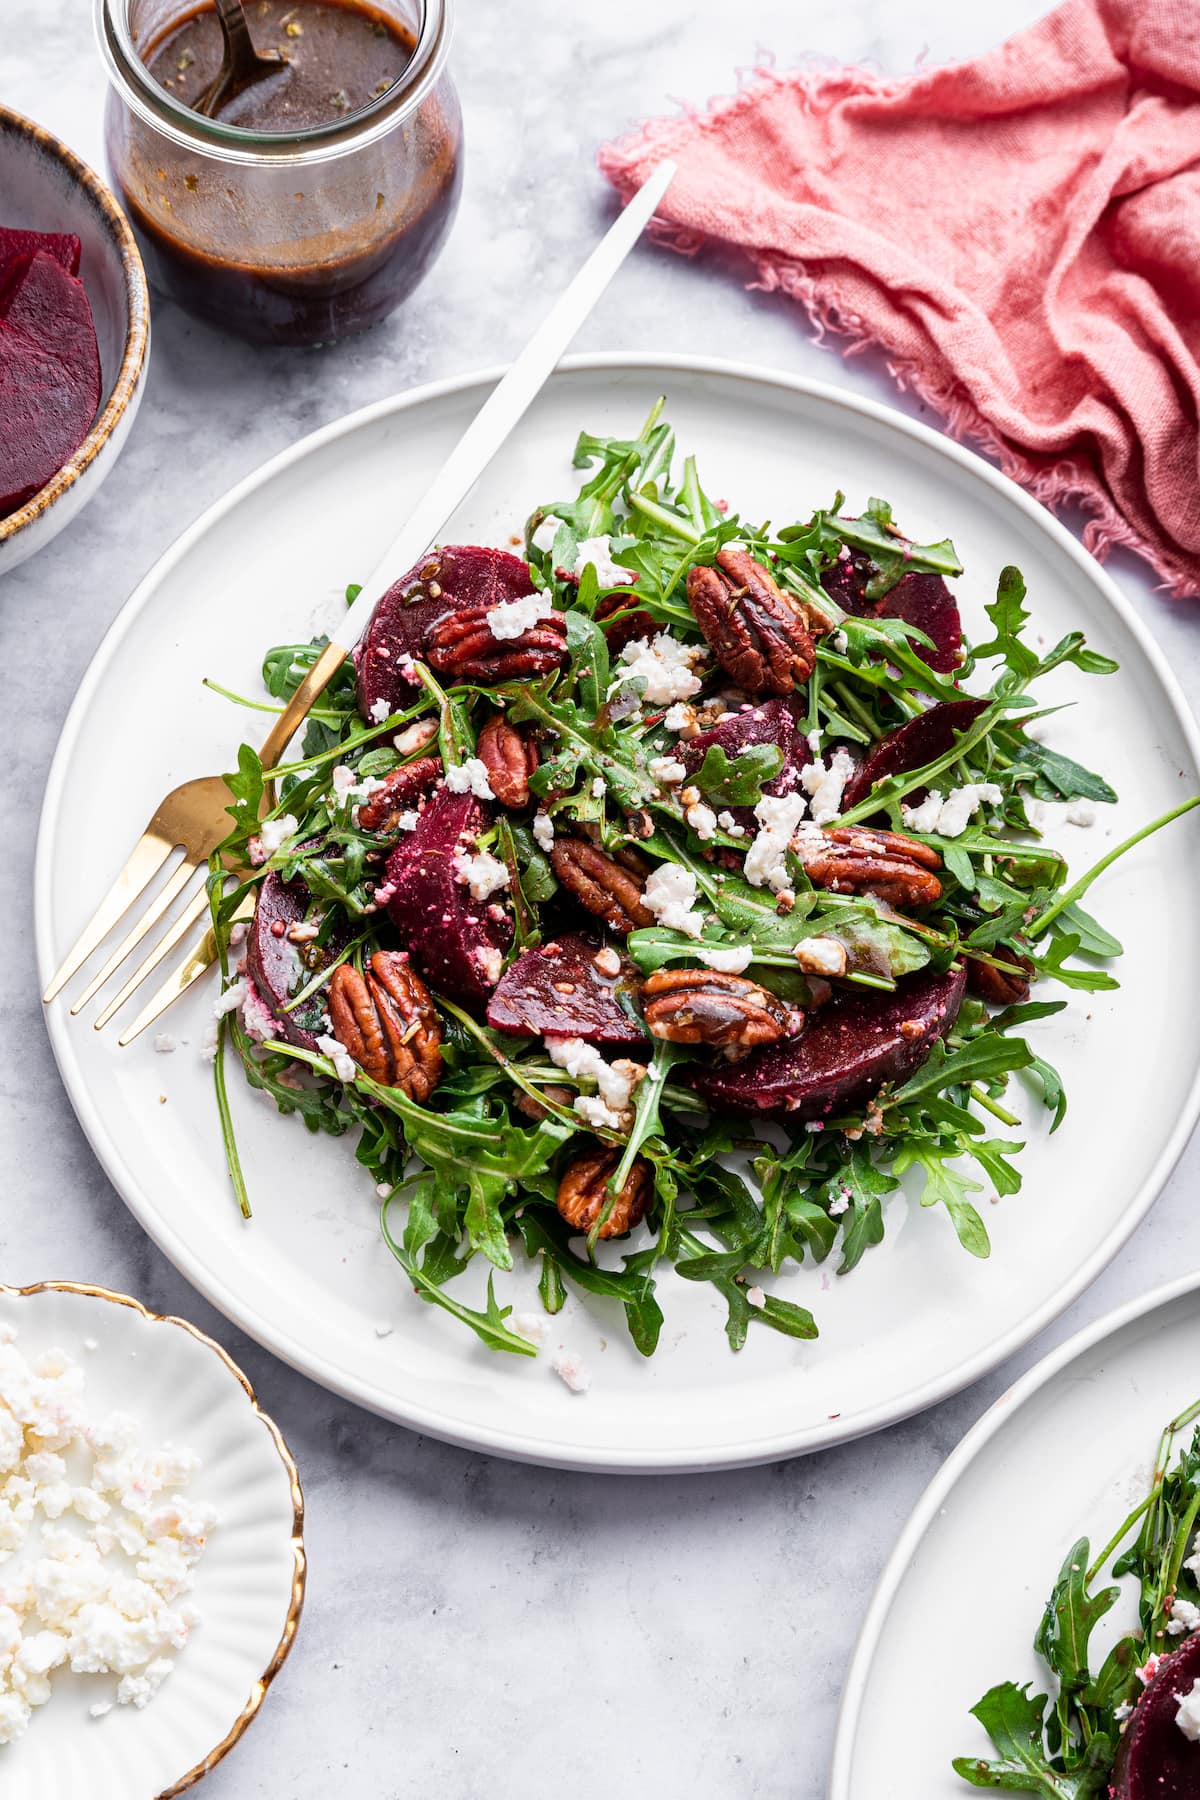
<svg viewBox="0 0 1200 1800">
<path fill-rule="evenodd" d="M 92 1719 L 88 1706 L 112 1699 L 113 1678 L 59 1670 L 27 1733 L 0 1748 L 0 1793 L 169 1800 L 234 1748 L 291 1649 L 304 1602 L 295 1463 L 241 1370 L 184 1319 L 106 1289 L 47 1282 L 0 1287 L 2 1325 L 16 1328 L 27 1355 L 59 1348 L 83 1364 L 88 1411 L 133 1415 L 148 1449 L 196 1451 L 189 1494 L 216 1507 L 218 1525 L 194 1571 L 201 1622 L 149 1706 Z"/>
</svg>

